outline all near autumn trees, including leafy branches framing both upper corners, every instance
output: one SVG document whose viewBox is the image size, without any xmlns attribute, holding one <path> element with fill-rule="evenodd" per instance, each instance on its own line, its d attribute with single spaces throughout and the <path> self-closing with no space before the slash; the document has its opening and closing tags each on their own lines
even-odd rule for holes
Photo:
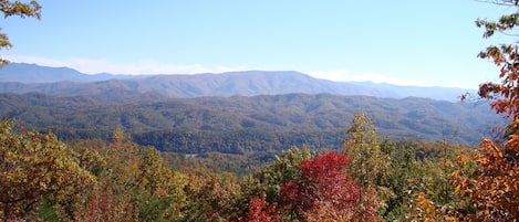
<svg viewBox="0 0 519 222">
<path fill-rule="evenodd" d="M 518 7 L 518 0 L 497 3 Z M 32 1 L 2 2 L 6 15 L 37 17 Z M 519 13 L 478 20 L 484 36 L 511 33 Z M 513 33 L 511 33 L 513 34 Z M 0 35 L 0 47 L 10 46 Z M 413 142 L 381 139 L 356 114 L 340 150 L 293 147 L 237 177 L 172 168 L 121 128 L 111 140 L 66 145 L 49 133 L 0 123 L 0 218 L 4 221 L 516 221 L 519 218 L 519 53 L 491 45 L 479 56 L 499 67 L 479 96 L 509 123 L 478 149 L 442 140 L 417 154 Z M 6 62 L 6 61 L 0 61 Z M 466 97 L 463 96 L 463 99 Z M 403 146 L 398 146 L 403 145 Z M 425 149 L 424 149 L 425 150 Z M 434 155 L 427 155 L 434 154 Z"/>
</svg>

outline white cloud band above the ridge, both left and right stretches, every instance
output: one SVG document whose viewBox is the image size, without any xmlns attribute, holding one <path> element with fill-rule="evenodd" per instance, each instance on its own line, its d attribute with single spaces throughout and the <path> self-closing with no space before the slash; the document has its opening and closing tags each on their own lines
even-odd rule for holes
<svg viewBox="0 0 519 222">
<path fill-rule="evenodd" d="M 87 60 L 87 59 L 48 59 L 27 55 L 7 55 L 6 59 L 11 62 L 34 63 L 53 67 L 71 67 L 86 74 L 111 73 L 111 74 L 197 74 L 197 73 L 224 73 L 231 71 L 247 71 L 247 66 L 207 66 L 201 64 L 163 64 L 152 60 L 117 63 L 107 60 Z M 263 71 L 276 71 L 277 68 L 253 68 Z M 283 68 L 278 68 L 283 70 Z M 335 82 L 374 82 L 388 83 L 394 85 L 413 85 L 413 86 L 451 86 L 460 87 L 456 83 L 438 82 L 438 81 L 416 81 L 397 78 L 380 73 L 352 73 L 347 70 L 334 71 L 308 71 L 304 72 L 313 77 L 323 78 Z"/>
</svg>

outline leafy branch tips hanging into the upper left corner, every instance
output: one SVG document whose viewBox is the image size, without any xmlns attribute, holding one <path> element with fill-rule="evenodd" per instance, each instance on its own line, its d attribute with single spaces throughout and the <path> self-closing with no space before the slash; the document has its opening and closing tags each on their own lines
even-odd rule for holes
<svg viewBox="0 0 519 222">
<path fill-rule="evenodd" d="M 21 18 L 41 18 L 41 6 L 32 0 L 28 3 L 23 3 L 19 0 L 8 1 L 0 0 L 0 11 L 3 13 L 4 18 L 8 17 L 21 17 Z M 6 33 L 0 33 L 0 50 L 12 47 L 11 42 Z M 0 57 L 0 65 L 7 64 L 9 61 Z"/>
</svg>

